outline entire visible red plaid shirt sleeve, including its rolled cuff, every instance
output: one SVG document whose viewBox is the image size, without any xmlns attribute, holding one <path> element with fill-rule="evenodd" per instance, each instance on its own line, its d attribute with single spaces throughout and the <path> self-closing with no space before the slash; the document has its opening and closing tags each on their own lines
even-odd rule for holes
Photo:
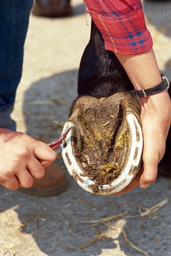
<svg viewBox="0 0 171 256">
<path fill-rule="evenodd" d="M 105 49 L 121 54 L 152 48 L 140 0 L 84 0 L 105 42 Z"/>
</svg>

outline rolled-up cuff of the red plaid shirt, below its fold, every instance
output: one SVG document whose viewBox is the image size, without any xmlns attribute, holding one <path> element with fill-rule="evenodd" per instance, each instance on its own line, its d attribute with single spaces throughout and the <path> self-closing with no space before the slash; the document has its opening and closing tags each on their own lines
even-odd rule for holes
<svg viewBox="0 0 171 256">
<path fill-rule="evenodd" d="M 129 15 L 109 15 L 88 9 L 105 42 L 105 49 L 121 54 L 143 53 L 152 48 L 143 9 Z"/>
</svg>

